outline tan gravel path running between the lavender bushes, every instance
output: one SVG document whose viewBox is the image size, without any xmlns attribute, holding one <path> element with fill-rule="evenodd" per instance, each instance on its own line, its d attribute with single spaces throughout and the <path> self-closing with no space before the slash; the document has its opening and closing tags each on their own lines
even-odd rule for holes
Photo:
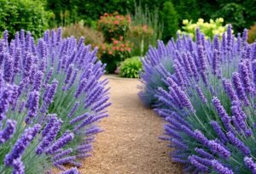
<svg viewBox="0 0 256 174">
<path fill-rule="evenodd" d="M 83 174 L 180 174 L 167 143 L 158 139 L 164 121 L 137 97 L 139 81 L 108 76 L 111 87 L 110 116 L 100 126 L 93 156 L 84 160 Z"/>
</svg>

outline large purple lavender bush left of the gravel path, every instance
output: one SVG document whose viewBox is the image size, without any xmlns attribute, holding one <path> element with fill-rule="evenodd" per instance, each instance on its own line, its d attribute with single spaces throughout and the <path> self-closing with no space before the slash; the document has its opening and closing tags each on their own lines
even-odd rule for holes
<svg viewBox="0 0 256 174">
<path fill-rule="evenodd" d="M 105 65 L 96 49 L 61 29 L 35 41 L 29 32 L 0 40 L 0 173 L 50 173 L 81 166 L 90 156 L 96 122 L 108 116 Z"/>
</svg>

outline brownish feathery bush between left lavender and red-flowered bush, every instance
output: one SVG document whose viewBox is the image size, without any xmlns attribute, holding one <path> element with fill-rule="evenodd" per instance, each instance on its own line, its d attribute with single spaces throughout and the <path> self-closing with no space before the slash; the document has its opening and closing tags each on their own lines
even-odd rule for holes
<svg viewBox="0 0 256 174">
<path fill-rule="evenodd" d="M 102 32 L 84 26 L 83 23 L 63 27 L 62 32 L 64 37 L 74 36 L 76 39 L 79 39 L 81 36 L 84 36 L 84 43 L 90 44 L 93 47 L 99 46 L 104 42 Z"/>
</svg>

